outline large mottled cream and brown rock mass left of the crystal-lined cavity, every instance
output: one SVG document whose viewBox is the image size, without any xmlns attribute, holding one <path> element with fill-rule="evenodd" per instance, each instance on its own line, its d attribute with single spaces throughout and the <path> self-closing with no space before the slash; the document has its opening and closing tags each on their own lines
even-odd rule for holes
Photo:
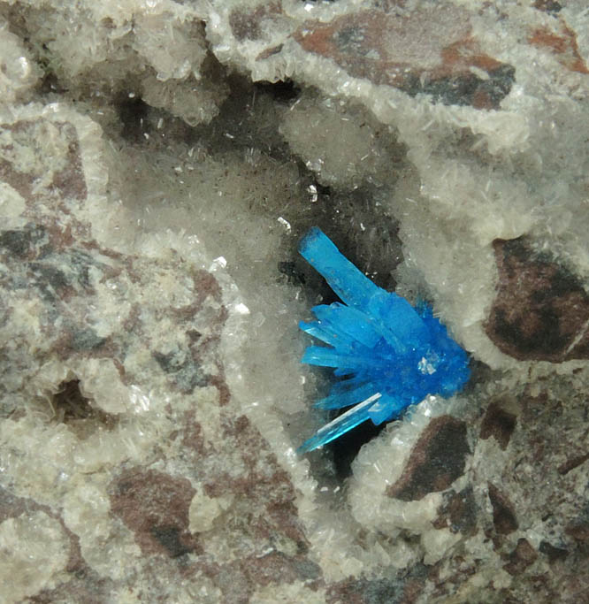
<svg viewBox="0 0 589 604">
<path fill-rule="evenodd" d="M 96 241 L 92 212 L 108 210 L 82 167 L 88 122 L 68 115 L 39 114 L 4 131 L 2 176 L 19 187 L 27 217 L 0 232 L 2 325 L 11 334 L 0 387 L 11 478 L 0 519 L 9 538 L 15 519 L 38 517 L 41 539 L 57 547 L 55 569 L 44 563 L 38 585 L 15 583 L 7 601 L 119 600 L 121 590 L 141 591 L 152 559 L 163 581 L 153 593 L 193 577 L 196 591 L 180 598 L 204 590 L 211 601 L 247 601 L 277 579 L 319 580 L 291 478 L 226 384 L 226 281 L 188 260 L 181 240 L 168 241 L 176 248 L 167 260 Z M 55 157 L 42 152 L 47 132 Z M 7 563 L 22 566 L 19 556 Z M 131 580 L 107 570 L 130 563 Z M 53 577 L 61 567 L 65 580 Z"/>
</svg>

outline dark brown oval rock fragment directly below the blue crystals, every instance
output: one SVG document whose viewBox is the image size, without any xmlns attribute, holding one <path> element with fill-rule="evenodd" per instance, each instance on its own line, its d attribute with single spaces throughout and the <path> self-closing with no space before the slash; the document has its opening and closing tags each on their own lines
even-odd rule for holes
<svg viewBox="0 0 589 604">
<path fill-rule="evenodd" d="M 464 473 L 466 424 L 450 416 L 434 417 L 411 451 L 401 478 L 386 489 L 389 497 L 418 501 L 427 493 L 443 491 Z"/>
</svg>

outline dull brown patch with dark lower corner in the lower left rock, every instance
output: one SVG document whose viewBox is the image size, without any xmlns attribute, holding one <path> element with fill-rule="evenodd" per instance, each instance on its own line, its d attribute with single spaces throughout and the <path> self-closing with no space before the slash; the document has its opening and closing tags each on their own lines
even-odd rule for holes
<svg viewBox="0 0 589 604">
<path fill-rule="evenodd" d="M 202 548 L 188 531 L 195 489 L 187 478 L 156 470 L 126 470 L 111 483 L 111 510 L 134 532 L 143 554 L 171 558 Z"/>
</svg>

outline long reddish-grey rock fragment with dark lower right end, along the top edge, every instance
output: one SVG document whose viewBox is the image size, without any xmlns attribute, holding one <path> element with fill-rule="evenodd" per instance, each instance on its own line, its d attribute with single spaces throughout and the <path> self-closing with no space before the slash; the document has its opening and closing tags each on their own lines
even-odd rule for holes
<svg viewBox="0 0 589 604">
<path fill-rule="evenodd" d="M 294 37 L 304 50 L 333 59 L 355 78 L 442 103 L 494 109 L 514 81 L 514 68 L 478 48 L 467 13 L 455 7 L 403 16 L 359 11 L 329 23 L 307 22 Z"/>
</svg>

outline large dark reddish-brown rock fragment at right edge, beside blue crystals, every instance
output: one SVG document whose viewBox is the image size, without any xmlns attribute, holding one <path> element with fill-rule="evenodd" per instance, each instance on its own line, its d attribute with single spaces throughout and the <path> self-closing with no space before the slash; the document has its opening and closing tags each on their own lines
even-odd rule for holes
<svg viewBox="0 0 589 604">
<path fill-rule="evenodd" d="M 486 333 L 521 361 L 589 358 L 589 295 L 576 277 L 525 239 L 493 242 L 499 270 Z"/>
</svg>

